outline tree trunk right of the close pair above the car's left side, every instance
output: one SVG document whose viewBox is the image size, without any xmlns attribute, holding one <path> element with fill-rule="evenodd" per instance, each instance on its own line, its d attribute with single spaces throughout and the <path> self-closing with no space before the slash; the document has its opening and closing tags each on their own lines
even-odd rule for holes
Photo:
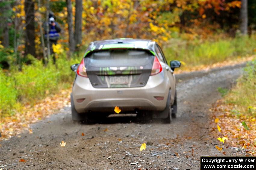
<svg viewBox="0 0 256 170">
<path fill-rule="evenodd" d="M 82 40 L 82 0 L 76 0 L 76 18 L 75 18 L 75 45 L 81 44 Z"/>
</svg>

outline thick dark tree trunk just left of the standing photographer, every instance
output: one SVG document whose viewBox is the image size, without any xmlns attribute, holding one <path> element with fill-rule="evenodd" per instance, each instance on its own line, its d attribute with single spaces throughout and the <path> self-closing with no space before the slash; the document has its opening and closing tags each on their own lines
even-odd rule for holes
<svg viewBox="0 0 256 170">
<path fill-rule="evenodd" d="M 25 55 L 36 55 L 35 51 L 35 2 L 25 0 L 25 12 L 26 12 L 26 43 L 25 43 Z"/>
</svg>

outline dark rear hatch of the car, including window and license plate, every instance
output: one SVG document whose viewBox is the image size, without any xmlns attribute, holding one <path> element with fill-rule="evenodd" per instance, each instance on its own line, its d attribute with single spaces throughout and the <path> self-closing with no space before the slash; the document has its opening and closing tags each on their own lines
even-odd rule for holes
<svg viewBox="0 0 256 170">
<path fill-rule="evenodd" d="M 86 55 L 85 66 L 95 88 L 142 87 L 148 82 L 154 58 L 147 50 L 109 49 Z"/>
</svg>

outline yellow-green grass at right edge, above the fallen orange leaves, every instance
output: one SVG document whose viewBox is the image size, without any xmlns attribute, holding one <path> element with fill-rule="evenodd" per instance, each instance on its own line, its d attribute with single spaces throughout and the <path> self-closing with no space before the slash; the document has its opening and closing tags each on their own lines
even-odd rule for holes
<svg viewBox="0 0 256 170">
<path fill-rule="evenodd" d="M 256 60 L 244 68 L 244 74 L 225 96 L 225 101 L 237 105 L 240 113 L 256 116 Z"/>
</svg>

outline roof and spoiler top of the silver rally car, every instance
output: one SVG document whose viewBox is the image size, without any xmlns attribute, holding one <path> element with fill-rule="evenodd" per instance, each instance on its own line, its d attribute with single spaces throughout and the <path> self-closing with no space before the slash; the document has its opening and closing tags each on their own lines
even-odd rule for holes
<svg viewBox="0 0 256 170">
<path fill-rule="evenodd" d="M 99 50 L 106 50 L 110 48 L 134 48 L 134 49 L 155 51 L 154 45 L 155 45 L 155 42 L 149 39 L 119 38 L 119 39 L 100 40 L 100 41 L 91 42 L 89 44 L 89 47 L 86 50 L 85 56 L 86 54 L 94 50 L 99 51 Z"/>
</svg>

